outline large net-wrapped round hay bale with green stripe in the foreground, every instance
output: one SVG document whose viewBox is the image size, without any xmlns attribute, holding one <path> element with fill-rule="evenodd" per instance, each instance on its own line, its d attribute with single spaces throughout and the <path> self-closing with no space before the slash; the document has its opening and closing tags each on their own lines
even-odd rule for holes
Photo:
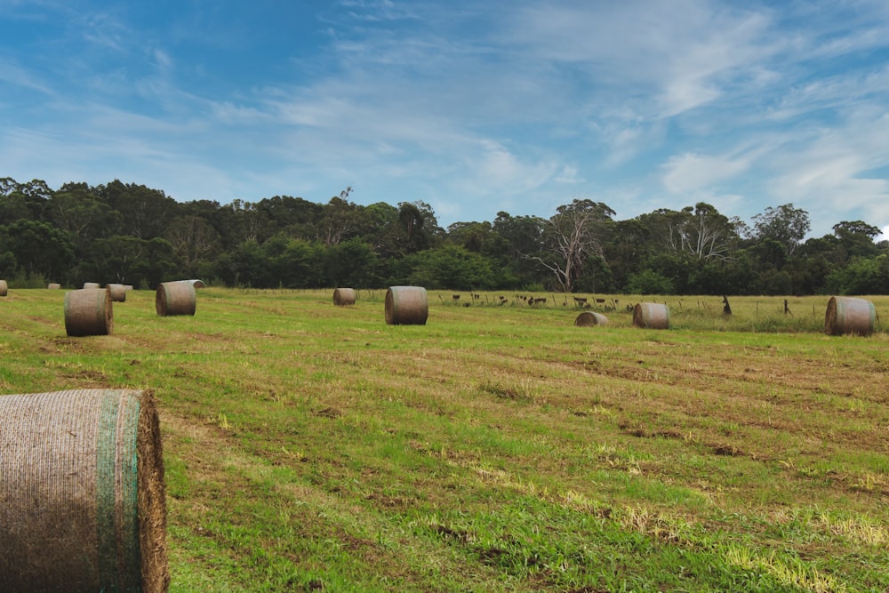
<svg viewBox="0 0 889 593">
<path fill-rule="evenodd" d="M 0 453 L 0 590 L 168 589 L 149 391 L 0 396 Z"/>
</svg>

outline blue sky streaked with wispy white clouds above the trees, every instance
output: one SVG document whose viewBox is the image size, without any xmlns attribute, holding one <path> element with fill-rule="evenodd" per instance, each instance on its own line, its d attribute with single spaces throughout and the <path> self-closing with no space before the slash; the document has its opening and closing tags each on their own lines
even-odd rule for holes
<svg viewBox="0 0 889 593">
<path fill-rule="evenodd" d="M 889 232 L 889 3 L 0 0 L 0 177 Z"/>
</svg>

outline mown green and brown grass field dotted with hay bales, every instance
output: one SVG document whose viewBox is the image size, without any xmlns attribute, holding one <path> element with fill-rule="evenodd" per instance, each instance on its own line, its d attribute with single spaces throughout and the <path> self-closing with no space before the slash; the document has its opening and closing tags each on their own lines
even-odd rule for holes
<svg viewBox="0 0 889 593">
<path fill-rule="evenodd" d="M 562 295 L 430 292 L 390 326 L 384 295 L 157 317 L 136 291 L 68 338 L 64 291 L 11 289 L 0 393 L 154 390 L 172 591 L 889 590 L 882 322 L 659 297 L 671 329 L 642 330 L 621 295 L 574 327 Z"/>
</svg>

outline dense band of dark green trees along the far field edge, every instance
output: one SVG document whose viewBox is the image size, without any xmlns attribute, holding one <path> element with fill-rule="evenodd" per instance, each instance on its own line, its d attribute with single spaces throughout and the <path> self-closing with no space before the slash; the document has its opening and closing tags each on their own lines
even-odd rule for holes
<svg viewBox="0 0 889 593">
<path fill-rule="evenodd" d="M 253 288 L 414 284 L 454 291 L 809 295 L 889 293 L 889 242 L 861 220 L 805 239 L 808 212 L 749 223 L 706 203 L 614 220 L 574 199 L 549 218 L 498 212 L 441 228 L 424 202 L 177 202 L 114 180 L 0 179 L 0 278 L 153 288 L 171 278 Z"/>
</svg>

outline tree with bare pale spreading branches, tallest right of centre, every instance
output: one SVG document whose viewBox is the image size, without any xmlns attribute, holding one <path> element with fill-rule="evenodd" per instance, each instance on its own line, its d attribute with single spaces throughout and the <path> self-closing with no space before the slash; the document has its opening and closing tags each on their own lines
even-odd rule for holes
<svg viewBox="0 0 889 593">
<path fill-rule="evenodd" d="M 572 292 L 587 258 L 605 259 L 602 245 L 613 215 L 606 204 L 589 199 L 561 205 L 544 227 L 543 252 L 528 257 L 553 273 L 562 292 Z"/>
</svg>

